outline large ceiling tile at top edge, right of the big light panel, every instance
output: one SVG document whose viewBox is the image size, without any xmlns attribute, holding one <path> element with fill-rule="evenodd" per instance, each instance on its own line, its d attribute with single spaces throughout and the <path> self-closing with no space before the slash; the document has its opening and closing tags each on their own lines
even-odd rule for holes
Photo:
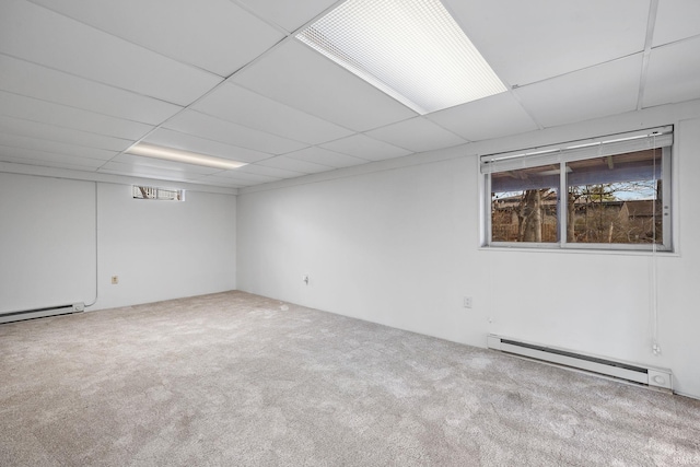
<svg viewBox="0 0 700 467">
<path fill-rule="evenodd" d="M 649 0 L 447 0 L 467 36 L 510 85 L 644 49 Z"/>
</svg>

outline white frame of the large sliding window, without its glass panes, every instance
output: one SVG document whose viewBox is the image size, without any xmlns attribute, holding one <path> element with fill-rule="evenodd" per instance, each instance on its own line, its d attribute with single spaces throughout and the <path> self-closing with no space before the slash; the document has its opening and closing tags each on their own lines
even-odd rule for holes
<svg viewBox="0 0 700 467">
<path fill-rule="evenodd" d="M 481 232 L 482 247 L 505 248 L 544 248 L 544 249 L 609 249 L 631 252 L 673 252 L 673 174 L 672 174 L 672 148 L 674 141 L 673 126 L 652 128 L 646 130 L 610 135 L 607 137 L 588 140 L 571 141 L 563 144 L 534 148 L 525 151 L 497 153 L 481 155 L 479 160 L 482 177 L 481 198 L 482 215 Z M 568 162 L 596 159 L 607 155 L 625 154 L 633 151 L 658 149 L 662 152 L 662 244 L 621 244 L 621 243 L 569 243 L 567 242 L 567 209 L 562 209 L 562 200 L 565 200 Z M 559 241 L 551 242 L 493 242 L 491 231 L 492 199 L 491 174 L 520 168 L 537 167 L 542 165 L 560 164 L 560 179 L 557 199 L 557 226 Z"/>
</svg>

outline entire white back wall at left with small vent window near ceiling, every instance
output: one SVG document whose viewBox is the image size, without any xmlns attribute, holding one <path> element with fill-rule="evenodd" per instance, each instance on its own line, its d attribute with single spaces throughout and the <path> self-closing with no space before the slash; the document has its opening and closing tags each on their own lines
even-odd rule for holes
<svg viewBox="0 0 700 467">
<path fill-rule="evenodd" d="M 96 294 L 93 311 L 236 288 L 233 195 L 136 200 L 128 184 L 0 173 L 0 312 L 89 304 Z"/>
</svg>

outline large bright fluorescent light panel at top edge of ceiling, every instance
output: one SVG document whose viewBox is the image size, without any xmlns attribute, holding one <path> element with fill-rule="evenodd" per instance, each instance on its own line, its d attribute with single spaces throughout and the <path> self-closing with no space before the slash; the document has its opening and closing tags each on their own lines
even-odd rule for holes
<svg viewBox="0 0 700 467">
<path fill-rule="evenodd" d="M 348 0 L 296 38 L 421 115 L 506 91 L 440 0 Z"/>
</svg>

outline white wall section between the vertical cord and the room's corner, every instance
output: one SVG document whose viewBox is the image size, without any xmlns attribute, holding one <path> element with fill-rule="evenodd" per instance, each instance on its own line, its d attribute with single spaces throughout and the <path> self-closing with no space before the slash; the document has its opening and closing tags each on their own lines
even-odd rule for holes
<svg viewBox="0 0 700 467">
<path fill-rule="evenodd" d="M 236 198 L 187 191 L 185 202 L 131 198 L 100 184 L 95 310 L 236 288 Z M 119 283 L 110 283 L 112 276 Z"/>
</svg>

